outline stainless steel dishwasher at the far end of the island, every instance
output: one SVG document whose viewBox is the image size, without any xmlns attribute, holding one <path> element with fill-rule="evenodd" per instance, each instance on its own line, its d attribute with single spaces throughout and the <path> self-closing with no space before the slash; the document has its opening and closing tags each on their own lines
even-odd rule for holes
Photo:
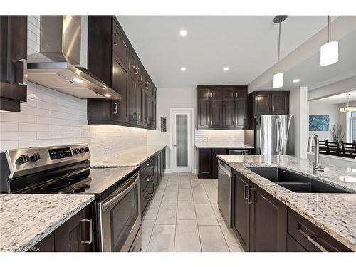
<svg viewBox="0 0 356 267">
<path fill-rule="evenodd" d="M 218 206 L 226 226 L 232 226 L 231 192 L 232 170 L 231 167 L 219 159 L 218 171 Z"/>
</svg>

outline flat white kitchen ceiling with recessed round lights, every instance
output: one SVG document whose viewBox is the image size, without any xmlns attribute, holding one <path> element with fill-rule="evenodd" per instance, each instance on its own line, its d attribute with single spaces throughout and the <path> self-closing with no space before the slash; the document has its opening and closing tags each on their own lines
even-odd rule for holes
<svg viewBox="0 0 356 267">
<path fill-rule="evenodd" d="M 277 61 L 274 16 L 117 16 L 159 88 L 248 84 Z M 288 16 L 281 58 L 327 25 L 326 16 Z M 187 36 L 179 36 L 184 28 Z M 187 71 L 179 69 L 185 66 Z M 230 70 L 224 72 L 223 67 Z"/>
</svg>

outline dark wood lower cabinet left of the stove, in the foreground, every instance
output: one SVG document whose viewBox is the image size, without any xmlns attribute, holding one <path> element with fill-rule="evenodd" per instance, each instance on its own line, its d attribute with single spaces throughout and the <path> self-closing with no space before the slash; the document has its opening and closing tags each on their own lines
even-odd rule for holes
<svg viewBox="0 0 356 267">
<path fill-rule="evenodd" d="M 95 251 L 93 204 L 89 204 L 51 234 L 39 241 L 31 252 Z"/>
</svg>

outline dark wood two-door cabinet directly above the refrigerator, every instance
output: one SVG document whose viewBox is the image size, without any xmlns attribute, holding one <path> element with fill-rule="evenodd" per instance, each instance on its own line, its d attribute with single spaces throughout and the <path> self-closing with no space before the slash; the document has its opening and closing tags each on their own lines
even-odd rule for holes
<svg viewBox="0 0 356 267">
<path fill-rule="evenodd" d="M 266 91 L 251 93 L 253 115 L 288 115 L 289 92 Z"/>
</svg>

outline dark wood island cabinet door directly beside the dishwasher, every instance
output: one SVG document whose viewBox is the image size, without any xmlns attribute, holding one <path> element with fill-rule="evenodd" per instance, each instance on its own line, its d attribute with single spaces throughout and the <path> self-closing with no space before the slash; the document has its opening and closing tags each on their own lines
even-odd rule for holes
<svg viewBox="0 0 356 267">
<path fill-rule="evenodd" d="M 250 205 L 247 202 L 249 180 L 233 172 L 233 218 L 232 228 L 244 251 L 250 251 Z"/>
</svg>

